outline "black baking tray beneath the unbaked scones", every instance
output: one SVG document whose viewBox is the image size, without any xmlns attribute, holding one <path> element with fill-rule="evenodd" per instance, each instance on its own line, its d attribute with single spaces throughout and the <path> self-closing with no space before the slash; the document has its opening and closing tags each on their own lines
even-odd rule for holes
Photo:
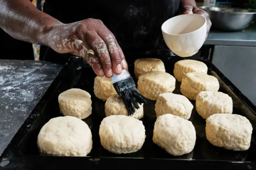
<svg viewBox="0 0 256 170">
<path fill-rule="evenodd" d="M 166 72 L 173 75 L 174 63 L 181 59 L 178 56 L 140 55 L 142 57 L 157 57 L 164 61 Z M 18 130 L 10 144 L 0 157 L 1 170 L 84 170 L 84 169 L 173 169 L 207 168 L 208 170 L 245 170 L 256 169 L 256 107 L 246 98 L 210 61 L 204 58 L 196 60 L 206 63 L 208 74 L 214 75 L 220 82 L 220 90 L 227 93 L 233 100 L 233 113 L 247 117 L 253 126 L 251 147 L 247 151 L 225 150 L 213 146 L 206 140 L 205 119 L 202 119 L 195 109 L 195 101 L 191 118 L 196 128 L 196 145 L 189 154 L 172 156 L 158 147 L 152 141 L 156 116 L 154 101 L 144 105 L 144 118 L 141 119 L 146 128 L 146 139 L 141 150 L 131 154 L 113 154 L 101 146 L 99 125 L 104 114 L 104 102 L 97 99 L 93 92 L 94 77 L 92 68 L 80 57 L 71 57 L 50 85 L 42 99 Z M 133 63 L 133 62 L 130 62 Z M 129 65 L 129 71 L 134 77 L 134 66 Z M 136 79 L 134 78 L 136 81 Z M 40 128 L 51 118 L 62 116 L 58 107 L 58 95 L 70 88 L 80 88 L 92 96 L 92 115 L 84 120 L 92 131 L 93 147 L 86 157 L 42 156 L 36 145 Z M 180 94 L 180 83 L 176 82 L 173 93 Z"/>
</svg>

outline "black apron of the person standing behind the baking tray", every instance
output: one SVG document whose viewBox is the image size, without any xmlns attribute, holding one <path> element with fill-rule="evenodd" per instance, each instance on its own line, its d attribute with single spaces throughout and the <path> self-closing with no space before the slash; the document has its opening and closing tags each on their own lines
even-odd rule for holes
<svg viewBox="0 0 256 170">
<path fill-rule="evenodd" d="M 69 3 L 68 3 L 69 2 Z M 46 0 L 44 12 L 63 23 L 100 19 L 114 34 L 124 55 L 168 49 L 161 25 L 178 14 L 179 0 Z M 42 46 L 40 59 L 65 63 L 70 54 Z"/>
</svg>

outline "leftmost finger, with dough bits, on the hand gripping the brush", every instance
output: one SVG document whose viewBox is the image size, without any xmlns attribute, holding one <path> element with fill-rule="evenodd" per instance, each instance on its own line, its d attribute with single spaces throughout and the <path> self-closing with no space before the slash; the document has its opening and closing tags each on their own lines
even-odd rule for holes
<svg viewBox="0 0 256 170">
<path fill-rule="evenodd" d="M 90 45 L 87 44 L 75 44 L 74 48 L 74 55 L 83 57 L 84 59 L 86 59 L 87 63 L 92 67 L 94 73 L 96 73 L 96 75 L 103 77 L 104 76 L 104 71 L 102 70 L 102 65 L 98 59 L 98 57 L 93 54 L 94 51 L 92 51 L 92 47 L 90 47 Z"/>
</svg>

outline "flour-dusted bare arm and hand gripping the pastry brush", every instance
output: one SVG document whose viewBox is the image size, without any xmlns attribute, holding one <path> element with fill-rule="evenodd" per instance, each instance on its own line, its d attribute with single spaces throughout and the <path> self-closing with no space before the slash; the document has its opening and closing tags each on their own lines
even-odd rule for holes
<svg viewBox="0 0 256 170">
<path fill-rule="evenodd" d="M 127 66 L 114 35 L 100 20 L 63 24 L 30 0 L 0 0 L 0 18 L 0 28 L 13 38 L 84 57 L 99 76 L 110 78 Z"/>
</svg>

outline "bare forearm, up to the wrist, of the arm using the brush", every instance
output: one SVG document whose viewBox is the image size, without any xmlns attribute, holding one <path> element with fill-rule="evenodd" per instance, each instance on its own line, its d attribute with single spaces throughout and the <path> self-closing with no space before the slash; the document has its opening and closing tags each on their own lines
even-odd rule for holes
<svg viewBox="0 0 256 170">
<path fill-rule="evenodd" d="M 30 0 L 0 0 L 0 28 L 15 39 L 48 45 L 60 21 L 38 10 Z"/>
</svg>

